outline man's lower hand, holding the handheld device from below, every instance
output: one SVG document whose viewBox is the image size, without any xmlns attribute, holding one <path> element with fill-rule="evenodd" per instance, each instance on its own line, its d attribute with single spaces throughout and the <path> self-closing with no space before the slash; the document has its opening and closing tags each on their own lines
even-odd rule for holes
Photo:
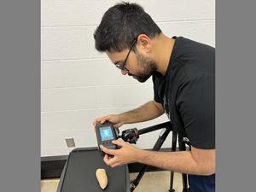
<svg viewBox="0 0 256 192">
<path fill-rule="evenodd" d="M 122 166 L 137 161 L 137 155 L 140 153 L 140 149 L 122 140 L 115 140 L 112 143 L 121 146 L 121 148 L 109 149 L 102 145 L 100 146 L 102 151 L 106 153 L 103 160 L 108 166 Z"/>
</svg>

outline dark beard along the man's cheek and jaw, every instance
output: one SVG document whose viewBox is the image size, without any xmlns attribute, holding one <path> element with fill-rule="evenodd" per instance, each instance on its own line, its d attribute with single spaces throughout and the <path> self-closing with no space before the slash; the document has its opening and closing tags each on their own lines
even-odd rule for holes
<svg viewBox="0 0 256 192">
<path fill-rule="evenodd" d="M 156 71 L 156 63 L 138 52 L 136 53 L 136 57 L 138 66 L 143 68 L 143 71 L 137 73 L 137 75 L 131 73 L 128 73 L 128 75 L 135 77 L 138 82 L 144 83 Z"/>
</svg>

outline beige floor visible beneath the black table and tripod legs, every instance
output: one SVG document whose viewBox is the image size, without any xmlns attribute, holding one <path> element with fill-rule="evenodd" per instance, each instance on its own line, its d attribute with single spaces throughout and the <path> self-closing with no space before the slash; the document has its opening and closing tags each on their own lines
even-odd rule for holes
<svg viewBox="0 0 256 192">
<path fill-rule="evenodd" d="M 167 192 L 170 187 L 170 172 L 146 172 L 134 192 Z M 137 173 L 130 174 L 131 179 Z M 41 181 L 41 192 L 56 192 L 59 179 L 44 179 Z M 181 192 L 183 189 L 180 173 L 174 174 L 174 189 Z"/>
</svg>

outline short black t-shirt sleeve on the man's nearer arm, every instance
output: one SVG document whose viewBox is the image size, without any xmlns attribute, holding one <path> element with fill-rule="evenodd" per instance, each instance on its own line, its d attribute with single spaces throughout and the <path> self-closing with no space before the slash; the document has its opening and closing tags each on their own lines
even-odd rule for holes
<svg viewBox="0 0 256 192">
<path fill-rule="evenodd" d="M 181 85 L 176 106 L 191 146 L 215 148 L 215 78 L 203 74 Z"/>
</svg>

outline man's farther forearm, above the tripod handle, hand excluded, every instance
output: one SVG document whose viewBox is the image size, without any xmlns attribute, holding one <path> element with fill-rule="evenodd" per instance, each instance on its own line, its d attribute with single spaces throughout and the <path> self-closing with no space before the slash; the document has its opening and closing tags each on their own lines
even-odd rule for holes
<svg viewBox="0 0 256 192">
<path fill-rule="evenodd" d="M 160 105 L 155 104 L 154 101 L 150 101 L 139 108 L 121 113 L 120 116 L 124 119 L 125 124 L 131 124 L 157 118 L 163 113 L 164 110 Z"/>
</svg>

